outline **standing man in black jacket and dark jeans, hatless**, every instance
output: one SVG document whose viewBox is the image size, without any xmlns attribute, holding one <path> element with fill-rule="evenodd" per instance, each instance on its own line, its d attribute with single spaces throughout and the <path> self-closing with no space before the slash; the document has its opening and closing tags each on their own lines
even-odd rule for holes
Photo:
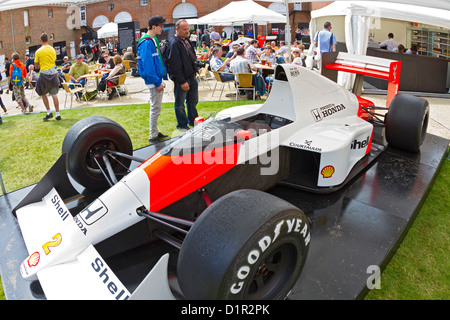
<svg viewBox="0 0 450 320">
<path fill-rule="evenodd" d="M 189 130 L 198 117 L 198 82 L 196 79 L 197 57 L 192 43 L 189 41 L 189 24 L 186 20 L 178 20 L 175 24 L 176 34 L 170 39 L 164 56 L 167 71 L 174 82 L 175 116 L 177 129 Z M 187 114 L 184 103 L 186 102 Z"/>
</svg>

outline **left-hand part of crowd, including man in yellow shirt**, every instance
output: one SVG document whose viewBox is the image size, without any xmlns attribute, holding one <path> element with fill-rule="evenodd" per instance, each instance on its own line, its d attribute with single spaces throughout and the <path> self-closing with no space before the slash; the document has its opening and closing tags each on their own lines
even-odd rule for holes
<svg viewBox="0 0 450 320">
<path fill-rule="evenodd" d="M 36 93 L 42 98 L 47 113 L 44 117 L 44 121 L 53 118 L 53 113 L 50 110 L 50 103 L 48 97 L 53 102 L 53 110 L 55 110 L 55 119 L 61 120 L 59 113 L 59 99 L 58 91 L 62 88 L 62 84 L 68 81 L 68 87 L 74 89 L 76 87 L 84 87 L 86 85 L 87 78 L 85 75 L 90 72 L 90 62 L 96 63 L 99 70 L 105 73 L 104 81 L 108 86 L 105 86 L 105 90 L 108 92 L 108 99 L 112 99 L 114 92 L 111 87 L 117 85 L 118 76 L 125 73 L 125 67 L 122 64 L 122 59 L 129 60 L 132 74 L 139 76 L 137 73 L 136 57 L 133 53 L 133 48 L 129 47 L 123 52 L 123 57 L 116 53 L 116 50 L 112 52 L 115 54 L 113 58 L 109 55 L 109 50 L 97 51 L 93 48 L 99 47 L 98 42 L 82 42 L 80 45 L 81 53 L 75 57 L 75 62 L 69 61 L 69 58 L 65 56 L 60 68 L 56 66 L 56 51 L 48 44 L 48 35 L 43 33 L 40 37 L 41 47 L 34 53 L 34 57 L 31 58 L 28 53 L 24 55 L 24 63 L 20 59 L 20 54 L 14 52 L 11 56 L 11 60 L 5 57 L 5 69 L 1 70 L 8 79 L 8 87 L 6 88 L 6 94 L 11 94 L 11 100 L 17 102 L 17 108 L 20 108 L 22 114 L 33 112 L 34 106 L 30 103 L 29 99 L 25 95 L 25 89 L 35 90 Z M 88 60 L 87 55 L 96 53 Z M 95 59 L 95 60 L 94 60 Z M 13 76 L 13 70 L 20 69 L 20 74 Z M 66 80 L 65 76 L 68 76 Z M 1 73 L 0 73 L 0 80 Z M 0 106 L 5 114 L 8 110 L 2 100 L 4 90 L 0 87 Z M 76 93 L 78 100 L 82 99 L 82 92 Z M 0 117 L 0 122 L 2 119 Z"/>
</svg>

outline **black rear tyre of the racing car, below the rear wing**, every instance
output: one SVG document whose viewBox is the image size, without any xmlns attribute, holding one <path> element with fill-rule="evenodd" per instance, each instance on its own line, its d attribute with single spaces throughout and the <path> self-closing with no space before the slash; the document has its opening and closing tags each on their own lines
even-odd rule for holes
<svg viewBox="0 0 450 320">
<path fill-rule="evenodd" d="M 419 152 L 427 133 L 429 115 L 427 100 L 396 95 L 385 119 L 388 144 L 404 151 Z"/>
</svg>

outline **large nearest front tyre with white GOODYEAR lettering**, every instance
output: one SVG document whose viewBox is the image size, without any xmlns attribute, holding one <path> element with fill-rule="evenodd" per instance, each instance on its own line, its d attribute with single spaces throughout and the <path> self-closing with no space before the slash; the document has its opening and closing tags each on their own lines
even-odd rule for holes
<svg viewBox="0 0 450 320">
<path fill-rule="evenodd" d="M 211 204 L 189 231 L 177 276 L 186 299 L 284 299 L 310 242 L 309 222 L 292 204 L 257 190 Z"/>
</svg>

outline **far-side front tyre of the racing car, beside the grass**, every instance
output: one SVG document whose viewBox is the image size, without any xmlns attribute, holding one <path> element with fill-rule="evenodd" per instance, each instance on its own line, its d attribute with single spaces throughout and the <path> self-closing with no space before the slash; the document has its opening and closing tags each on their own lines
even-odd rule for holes
<svg viewBox="0 0 450 320">
<path fill-rule="evenodd" d="M 100 116 L 84 118 L 67 132 L 62 152 L 67 154 L 66 169 L 72 178 L 90 190 L 110 187 L 103 172 L 107 172 L 102 155 L 106 150 L 131 155 L 133 146 L 125 129 L 116 122 Z M 95 158 L 95 160 L 94 160 Z M 118 180 L 127 173 L 131 160 L 112 159 L 111 166 Z M 99 166 L 99 165 L 100 166 Z"/>
</svg>

